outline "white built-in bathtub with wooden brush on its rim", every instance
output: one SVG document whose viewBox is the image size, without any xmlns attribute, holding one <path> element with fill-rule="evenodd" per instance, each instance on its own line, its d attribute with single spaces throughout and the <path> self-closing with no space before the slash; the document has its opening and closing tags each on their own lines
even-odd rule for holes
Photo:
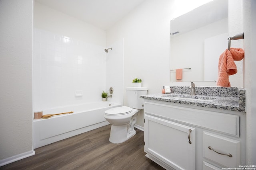
<svg viewBox="0 0 256 170">
<path fill-rule="evenodd" d="M 108 125 L 108 121 L 104 118 L 104 111 L 118 106 L 121 104 L 96 102 L 43 110 L 43 115 L 69 111 L 74 111 L 74 113 L 56 115 L 48 119 L 34 119 L 33 148 L 36 149 Z"/>
</svg>

